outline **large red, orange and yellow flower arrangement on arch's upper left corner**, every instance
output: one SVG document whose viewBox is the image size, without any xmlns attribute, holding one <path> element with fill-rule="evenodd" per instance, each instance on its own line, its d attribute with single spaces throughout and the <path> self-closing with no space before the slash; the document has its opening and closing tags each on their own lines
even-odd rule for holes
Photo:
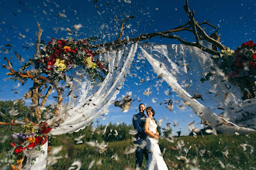
<svg viewBox="0 0 256 170">
<path fill-rule="evenodd" d="M 102 80 L 100 73 L 107 73 L 106 64 L 95 59 L 95 52 L 89 49 L 91 41 L 91 39 L 75 41 L 71 37 L 67 39 L 52 38 L 42 47 L 39 55 L 22 66 L 22 70 L 34 63 L 39 74 L 45 73 L 51 80 L 56 80 L 62 73 L 82 66 L 93 81 L 97 77 Z"/>
</svg>

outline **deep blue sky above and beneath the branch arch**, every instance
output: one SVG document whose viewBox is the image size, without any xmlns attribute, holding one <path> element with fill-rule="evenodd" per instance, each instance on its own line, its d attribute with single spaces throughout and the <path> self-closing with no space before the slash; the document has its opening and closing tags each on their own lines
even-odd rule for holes
<svg viewBox="0 0 256 170">
<path fill-rule="evenodd" d="M 188 22 L 188 17 L 183 9 L 185 0 L 98 0 L 98 1 L 67 1 L 67 0 L 43 0 L 43 1 L 0 1 L 0 59 L 5 63 L 4 57 L 11 59 L 14 69 L 17 70 L 22 63 L 16 58 L 15 52 L 19 53 L 25 60 L 33 57 L 35 53 L 36 22 L 40 23 L 43 29 L 41 39 L 44 42 L 50 41 L 52 37 L 60 39 L 66 38 L 66 29 L 72 30 L 74 39 L 99 36 L 102 42 L 110 42 L 116 39 L 119 26 L 123 19 L 134 15 L 135 18 L 126 22 L 124 36 L 134 37 L 140 33 L 161 32 L 173 29 Z M 236 49 L 243 42 L 255 40 L 255 2 L 253 0 L 226 0 L 226 1 L 202 1 L 190 0 L 189 7 L 195 10 L 195 20 L 209 22 L 220 28 L 219 34 L 223 45 Z M 74 30 L 73 26 L 81 24 L 81 29 Z M 213 32 L 213 29 L 206 28 L 206 32 Z M 186 40 L 193 41 L 193 36 L 189 32 L 181 32 L 178 35 Z M 150 39 L 147 42 L 178 43 L 171 39 Z M 6 44 L 11 44 L 8 49 Z M 26 50 L 26 47 L 29 47 Z M 4 49 L 7 49 L 6 51 Z M 144 77 L 150 72 L 150 67 L 138 73 Z M 23 93 L 29 90 L 32 83 L 22 86 L 19 82 L 5 80 L 7 70 L 0 68 L 0 100 L 14 100 L 22 97 Z M 147 75 L 146 75 L 147 76 Z M 153 72 L 149 76 L 154 76 Z M 164 92 L 171 89 L 164 82 L 156 89 L 154 85 L 159 80 L 145 81 L 128 77 L 123 89 L 120 90 L 118 98 L 126 92 L 132 91 L 133 98 L 140 97 L 142 103 L 152 106 L 156 110 L 156 119 L 165 119 L 167 122 L 178 123 L 178 127 L 173 127 L 174 131 L 182 130 L 182 134 L 188 134 L 188 124 L 195 121 L 199 123 L 199 118 L 192 111 L 175 107 L 173 111 L 165 108 L 164 100 L 178 97 L 174 94 L 166 95 Z M 139 85 L 136 85 L 138 83 Z M 18 87 L 18 88 L 16 88 Z M 150 88 L 153 93 L 150 96 L 143 94 L 144 90 Z M 156 103 L 152 98 L 157 98 Z M 50 100 L 49 100 L 50 102 Z M 131 109 L 123 113 L 119 107 L 109 107 L 109 114 L 105 120 L 99 120 L 99 124 L 125 122 L 132 123 L 133 114 L 137 113 L 140 102 L 134 101 Z M 200 126 L 200 124 L 197 124 Z"/>
</svg>

